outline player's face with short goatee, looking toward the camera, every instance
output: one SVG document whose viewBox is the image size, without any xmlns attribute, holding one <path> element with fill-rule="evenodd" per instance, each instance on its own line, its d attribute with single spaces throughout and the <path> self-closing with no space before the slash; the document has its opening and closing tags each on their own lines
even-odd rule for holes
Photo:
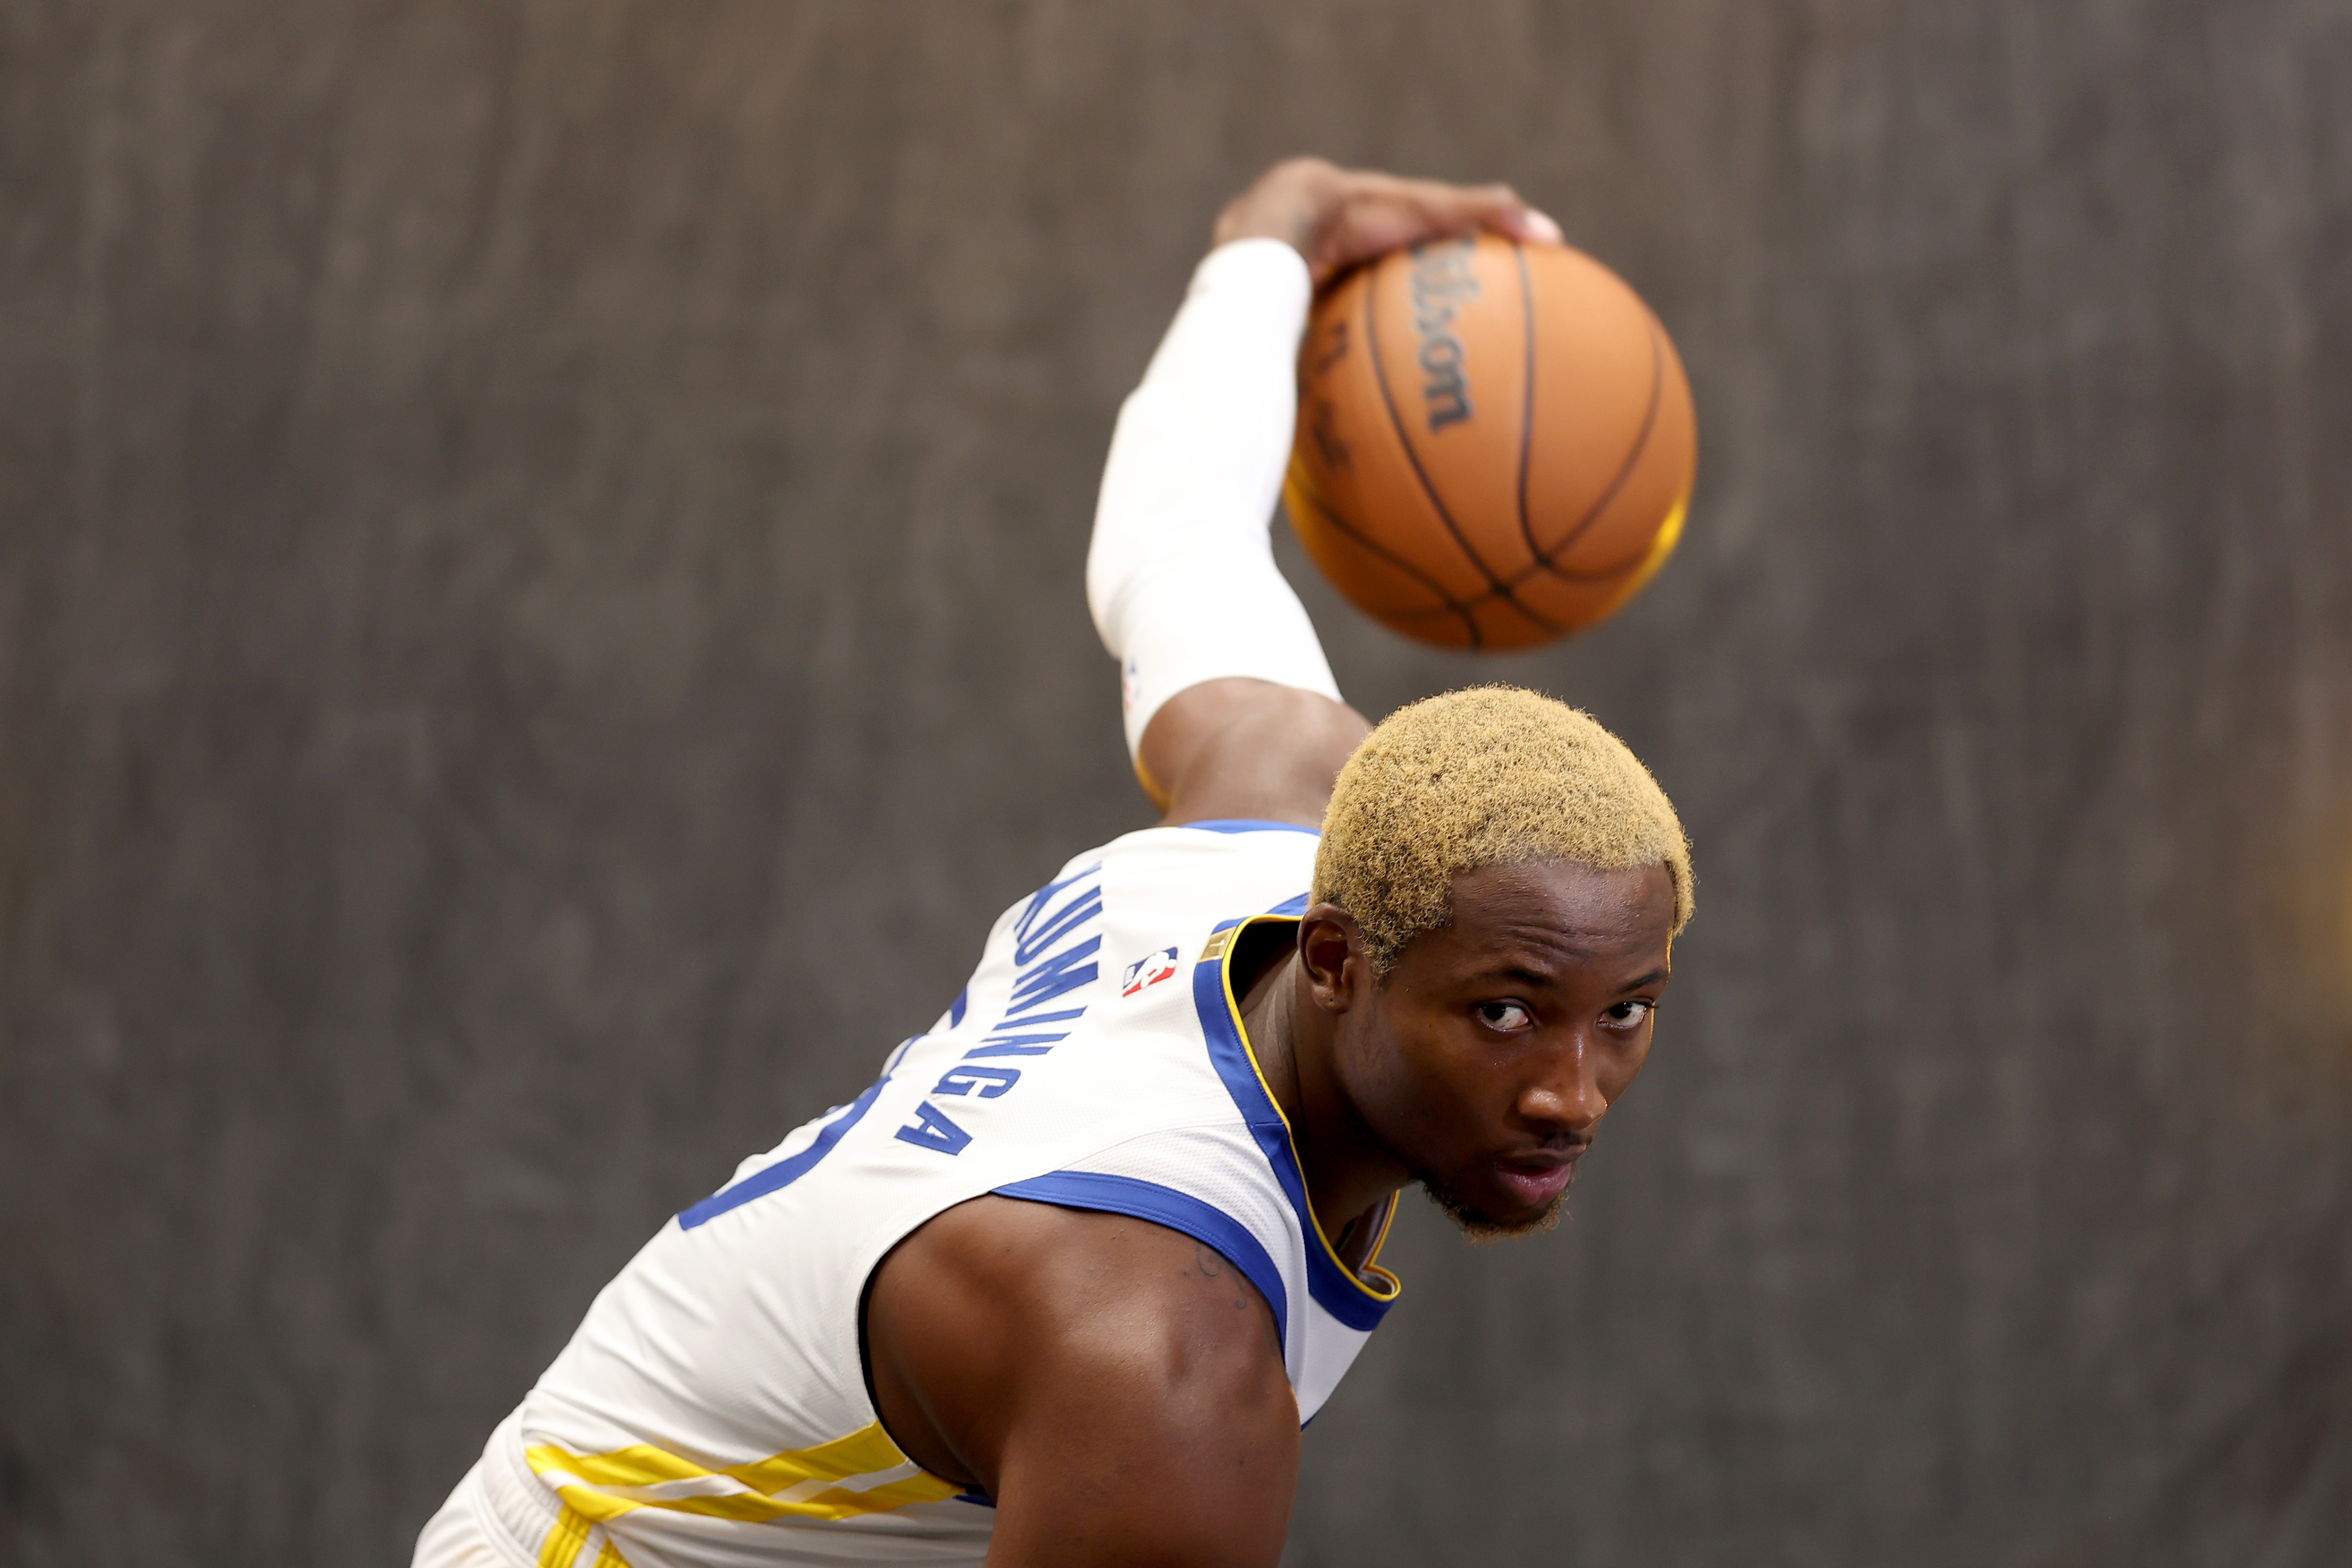
<svg viewBox="0 0 2352 1568">
<path fill-rule="evenodd" d="M 1665 867 L 1564 860 L 1454 879 L 1454 922 L 1414 938 L 1336 1070 L 1364 1124 L 1470 1234 L 1559 1215 L 1602 1114 L 1642 1072 L 1668 978 Z"/>
</svg>

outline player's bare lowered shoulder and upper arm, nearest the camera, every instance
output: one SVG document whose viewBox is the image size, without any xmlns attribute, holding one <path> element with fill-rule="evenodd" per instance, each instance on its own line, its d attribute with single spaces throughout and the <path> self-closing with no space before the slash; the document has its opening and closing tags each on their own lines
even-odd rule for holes
<svg viewBox="0 0 2352 1568">
<path fill-rule="evenodd" d="M 1298 1403 L 1265 1298 L 1192 1237 L 983 1197 L 875 1269 L 866 1352 L 910 1460 L 997 1502 L 990 1568 L 1275 1568 Z"/>
</svg>

